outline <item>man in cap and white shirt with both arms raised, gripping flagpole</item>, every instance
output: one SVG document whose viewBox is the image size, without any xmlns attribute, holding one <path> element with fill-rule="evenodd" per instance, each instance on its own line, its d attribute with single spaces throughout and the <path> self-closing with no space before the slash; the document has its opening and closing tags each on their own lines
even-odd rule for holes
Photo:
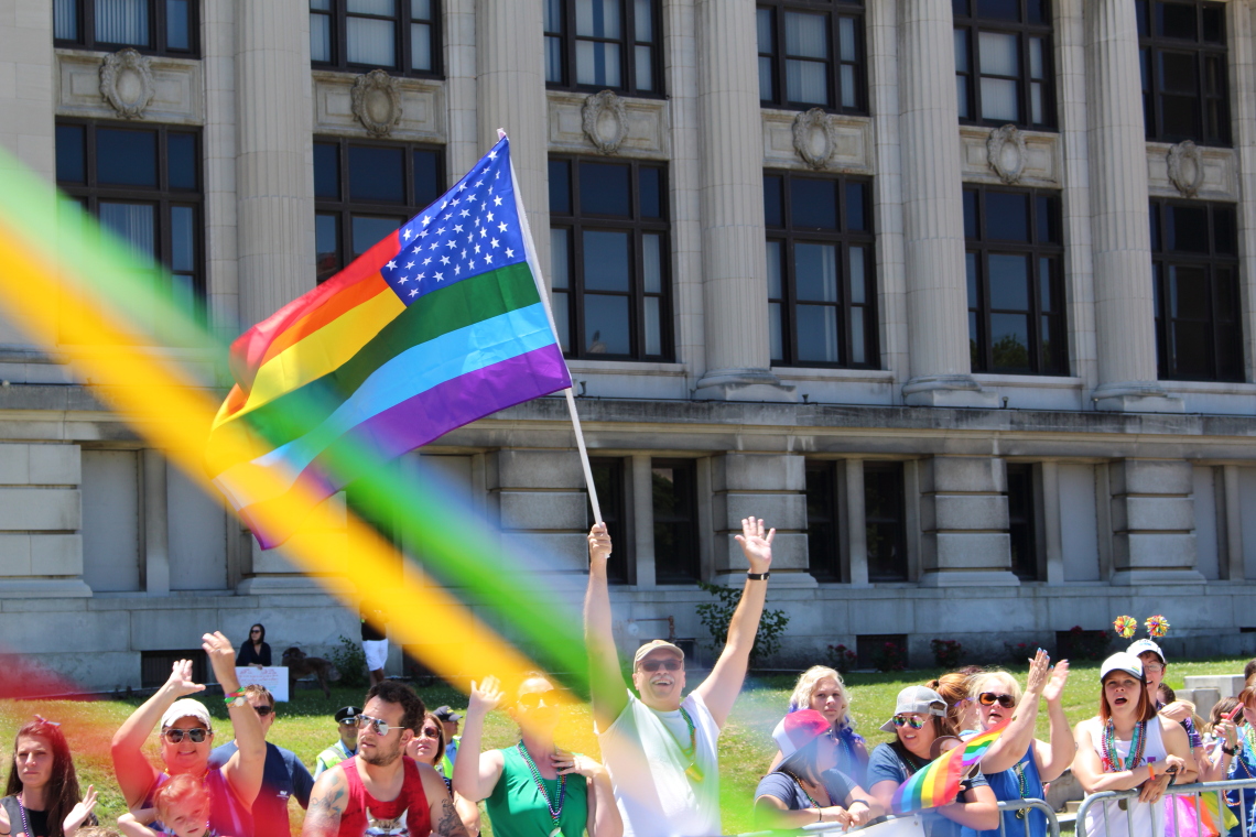
<svg viewBox="0 0 1256 837">
<path fill-rule="evenodd" d="M 589 532 L 584 639 L 593 714 L 624 837 L 701 837 L 721 831 L 716 742 L 746 678 L 767 596 L 776 530 L 765 535 L 764 522 L 749 517 L 741 521 L 741 532 L 737 542 L 750 572 L 728 624 L 728 640 L 711 675 L 687 698 L 685 653 L 662 640 L 642 645 L 633 658 L 632 681 L 641 698 L 624 688 L 607 591 L 610 536 L 604 523 Z"/>
</svg>

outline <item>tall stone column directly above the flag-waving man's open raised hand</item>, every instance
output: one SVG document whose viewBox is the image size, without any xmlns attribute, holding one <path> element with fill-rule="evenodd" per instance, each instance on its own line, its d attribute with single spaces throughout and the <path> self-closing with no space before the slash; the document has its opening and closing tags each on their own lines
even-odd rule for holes
<svg viewBox="0 0 1256 837">
<path fill-rule="evenodd" d="M 770 371 L 754 0 L 697 0 L 702 302 L 697 397 L 796 400 Z"/>
</svg>

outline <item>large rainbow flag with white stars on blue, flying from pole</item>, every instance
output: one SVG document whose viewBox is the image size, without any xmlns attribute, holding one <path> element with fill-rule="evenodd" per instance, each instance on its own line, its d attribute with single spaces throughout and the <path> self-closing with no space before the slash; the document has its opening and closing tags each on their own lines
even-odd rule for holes
<svg viewBox="0 0 1256 837">
<path fill-rule="evenodd" d="M 571 385 L 525 217 L 502 137 L 423 212 L 232 344 L 207 462 L 264 548 L 293 532 L 260 531 L 256 512 L 298 481 L 335 493 L 360 445 L 394 458 Z M 234 458 L 235 434 L 266 453 Z M 280 493 L 246 493 L 255 469 L 279 476 Z"/>
</svg>

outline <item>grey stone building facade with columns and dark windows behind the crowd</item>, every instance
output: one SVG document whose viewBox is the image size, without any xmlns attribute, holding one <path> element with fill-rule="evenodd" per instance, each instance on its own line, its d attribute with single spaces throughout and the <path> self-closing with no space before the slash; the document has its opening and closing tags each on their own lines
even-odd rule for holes
<svg viewBox="0 0 1256 837">
<path fill-rule="evenodd" d="M 668 617 L 703 639 L 696 581 L 737 584 L 732 536 L 757 514 L 779 531 L 781 664 L 838 644 L 869 663 L 885 641 L 924 663 L 932 639 L 990 659 L 1152 612 L 1171 654 L 1250 653 L 1253 14 L 8 0 L 0 144 L 234 336 L 505 128 L 617 536 L 625 649 Z M 0 331 L 8 650 L 112 688 L 211 626 L 265 621 L 276 651 L 355 635 L 74 383 L 90 348 Z M 579 591 L 573 447 L 550 398 L 406 467 Z"/>
</svg>

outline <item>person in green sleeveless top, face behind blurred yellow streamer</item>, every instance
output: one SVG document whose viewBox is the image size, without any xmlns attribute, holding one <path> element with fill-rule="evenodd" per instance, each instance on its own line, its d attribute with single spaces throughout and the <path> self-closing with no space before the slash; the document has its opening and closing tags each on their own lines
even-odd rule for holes
<svg viewBox="0 0 1256 837">
<path fill-rule="evenodd" d="M 453 789 L 471 802 L 484 799 L 494 837 L 622 837 L 623 821 L 607 769 L 554 744 L 559 694 L 544 675 L 529 674 L 507 710 L 519 724 L 519 743 L 480 752 L 484 718 L 502 698 L 494 676 L 471 684 L 462 744 L 453 762 Z"/>
</svg>

